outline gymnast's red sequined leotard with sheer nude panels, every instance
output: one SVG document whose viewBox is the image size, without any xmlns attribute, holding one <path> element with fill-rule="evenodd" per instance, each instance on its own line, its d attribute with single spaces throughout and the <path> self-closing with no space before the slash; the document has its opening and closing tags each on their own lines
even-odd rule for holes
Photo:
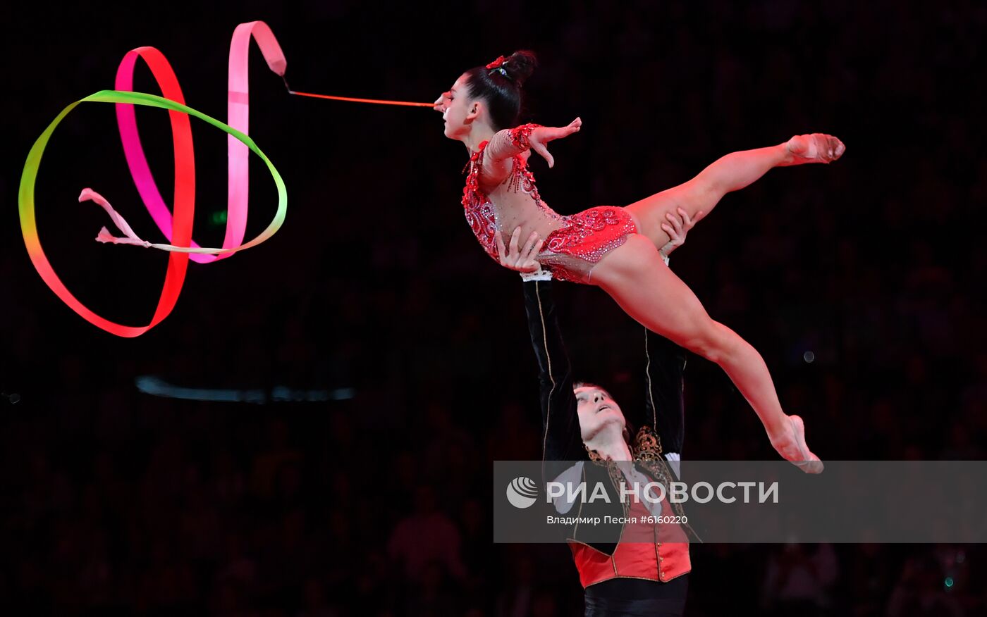
<svg viewBox="0 0 987 617">
<path fill-rule="evenodd" d="M 529 149 L 527 137 L 535 126 L 525 124 L 500 131 L 490 142 L 480 144 L 470 157 L 463 189 L 466 221 L 494 260 L 494 234 L 503 234 L 506 244 L 516 227 L 521 227 L 525 235 L 538 232 L 539 238 L 545 240 L 538 261 L 551 269 L 557 279 L 587 283 L 593 266 L 638 230 L 634 219 L 621 207 L 598 206 L 562 216 L 542 201 L 524 156 Z M 489 150 L 498 159 L 510 158 L 511 171 L 503 182 L 485 192 L 480 180 L 484 154 Z"/>
</svg>

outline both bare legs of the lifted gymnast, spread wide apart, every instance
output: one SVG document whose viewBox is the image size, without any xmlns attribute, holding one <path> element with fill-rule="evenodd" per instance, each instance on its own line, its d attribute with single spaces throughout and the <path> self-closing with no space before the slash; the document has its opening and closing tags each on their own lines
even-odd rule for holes
<svg viewBox="0 0 987 617">
<path fill-rule="evenodd" d="M 669 240 L 662 229 L 667 226 L 665 215 L 677 208 L 689 216 L 705 216 L 724 194 L 747 186 L 774 167 L 829 163 L 844 150 L 835 137 L 816 133 L 722 157 L 692 180 L 628 206 L 640 234 L 605 256 L 591 277 L 645 327 L 717 363 L 754 408 L 772 446 L 803 471 L 816 473 L 822 463 L 805 445 L 801 418 L 782 410 L 761 355 L 710 317 L 692 290 L 668 269 L 657 248 Z"/>
</svg>

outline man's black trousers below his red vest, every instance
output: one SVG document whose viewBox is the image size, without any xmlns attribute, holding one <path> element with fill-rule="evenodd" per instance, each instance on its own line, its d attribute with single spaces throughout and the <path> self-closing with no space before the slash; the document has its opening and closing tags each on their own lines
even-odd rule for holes
<svg viewBox="0 0 987 617">
<path fill-rule="evenodd" d="M 611 579 L 586 587 L 585 617 L 681 617 L 689 575 L 668 583 Z"/>
</svg>

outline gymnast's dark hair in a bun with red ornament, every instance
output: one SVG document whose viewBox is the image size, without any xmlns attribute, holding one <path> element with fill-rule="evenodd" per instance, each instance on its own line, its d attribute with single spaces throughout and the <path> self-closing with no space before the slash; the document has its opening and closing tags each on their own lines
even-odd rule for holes
<svg viewBox="0 0 987 617">
<path fill-rule="evenodd" d="M 495 63 L 496 61 L 491 64 Z M 504 58 L 498 68 L 478 66 L 466 72 L 470 98 L 487 102 L 494 129 L 517 126 L 524 103 L 521 87 L 531 77 L 536 66 L 538 60 L 534 52 L 522 49 Z"/>
</svg>

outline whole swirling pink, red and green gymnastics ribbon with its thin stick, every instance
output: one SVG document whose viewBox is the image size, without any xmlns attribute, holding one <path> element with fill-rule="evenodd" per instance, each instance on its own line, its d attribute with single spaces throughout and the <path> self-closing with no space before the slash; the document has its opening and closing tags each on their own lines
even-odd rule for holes
<svg viewBox="0 0 987 617">
<path fill-rule="evenodd" d="M 154 47 L 137 47 L 127 52 L 120 61 L 119 67 L 116 70 L 115 90 L 98 92 L 85 99 L 71 103 L 62 109 L 61 113 L 41 133 L 38 141 L 35 142 L 31 152 L 28 154 L 28 161 L 25 164 L 24 172 L 21 176 L 18 206 L 21 217 L 21 229 L 24 233 L 25 244 L 28 247 L 28 254 L 31 256 L 35 268 L 38 269 L 41 279 L 51 288 L 55 295 L 90 323 L 117 336 L 133 337 L 143 334 L 160 323 L 175 308 L 175 303 L 178 301 L 179 294 L 182 291 L 182 285 L 185 282 L 189 259 L 199 263 L 208 263 L 222 259 L 234 252 L 256 246 L 273 236 L 281 227 L 284 221 L 284 214 L 287 210 L 284 182 L 264 153 L 261 152 L 254 141 L 247 135 L 250 125 L 248 59 L 251 37 L 257 41 L 258 46 L 261 48 L 267 67 L 284 80 L 284 71 L 287 62 L 270 28 L 264 22 L 260 21 L 237 26 L 233 32 L 233 39 L 230 42 L 227 82 L 228 124 L 224 124 L 219 120 L 186 106 L 185 97 L 182 94 L 182 88 L 179 86 L 178 78 L 168 59 L 165 58 L 165 55 Z M 162 97 L 131 92 L 133 89 L 133 72 L 136 67 L 137 58 L 142 58 L 150 68 L 155 82 L 161 88 Z M 284 86 L 290 94 L 302 97 L 354 103 L 433 106 L 432 103 L 353 99 L 299 93 L 292 91 L 288 87 L 287 80 L 284 80 Z M 123 145 L 127 167 L 133 177 L 137 192 L 140 194 L 141 200 L 144 202 L 151 218 L 162 234 L 169 240 L 169 243 L 153 243 L 140 239 L 123 217 L 114 210 L 110 202 L 102 195 L 89 188 L 83 189 L 80 194 L 79 201 L 92 200 L 103 207 L 110 215 L 116 228 L 123 234 L 122 238 L 114 237 L 104 227 L 100 230 L 96 240 L 101 242 L 135 244 L 147 248 L 159 248 L 171 253 L 168 261 L 168 272 L 165 275 L 165 282 L 161 296 L 158 299 L 157 309 L 155 309 L 150 323 L 145 326 L 121 325 L 101 317 L 91 309 L 86 308 L 61 282 L 48 262 L 44 251 L 41 249 L 41 243 L 38 238 L 38 225 L 35 219 L 35 183 L 38 177 L 38 166 L 40 165 L 44 148 L 55 127 L 79 103 L 115 103 L 116 123 L 119 128 L 120 141 Z M 158 190 L 154 176 L 151 173 L 150 166 L 148 166 L 147 157 L 144 155 L 144 149 L 140 143 L 140 136 L 137 131 L 134 104 L 168 110 L 172 126 L 172 142 L 175 150 L 174 213 L 169 210 L 168 205 L 161 196 L 161 192 Z M 203 248 L 191 239 L 192 218 L 195 207 L 195 155 L 192 147 L 190 115 L 194 115 L 228 133 L 227 222 L 226 235 L 223 239 L 222 248 Z M 253 151 L 264 160 L 268 170 L 274 177 L 274 183 L 277 185 L 277 211 L 264 232 L 254 240 L 243 243 L 247 229 L 247 202 L 250 188 L 249 151 Z"/>
</svg>

